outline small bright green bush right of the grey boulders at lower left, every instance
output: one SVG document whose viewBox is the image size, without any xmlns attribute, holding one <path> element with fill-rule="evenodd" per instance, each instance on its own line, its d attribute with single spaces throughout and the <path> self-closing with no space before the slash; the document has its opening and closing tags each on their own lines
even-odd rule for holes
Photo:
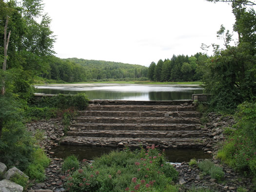
<svg viewBox="0 0 256 192">
<path fill-rule="evenodd" d="M 26 168 L 25 173 L 30 179 L 36 179 L 41 182 L 45 179 L 44 169 L 49 165 L 51 160 L 44 154 L 43 150 L 38 148 L 32 154 L 32 163 Z"/>
</svg>

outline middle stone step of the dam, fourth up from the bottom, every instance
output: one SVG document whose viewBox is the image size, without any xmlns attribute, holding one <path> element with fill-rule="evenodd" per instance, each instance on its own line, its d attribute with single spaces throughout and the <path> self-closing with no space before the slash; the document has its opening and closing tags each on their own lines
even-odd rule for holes
<svg viewBox="0 0 256 192">
<path fill-rule="evenodd" d="M 110 117 L 110 116 L 87 116 L 74 118 L 79 123 L 189 123 L 198 124 L 196 117 Z"/>
</svg>

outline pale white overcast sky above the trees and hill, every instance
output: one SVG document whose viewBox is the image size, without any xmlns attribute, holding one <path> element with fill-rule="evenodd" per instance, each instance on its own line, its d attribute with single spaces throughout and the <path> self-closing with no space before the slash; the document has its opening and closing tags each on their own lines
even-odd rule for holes
<svg viewBox="0 0 256 192">
<path fill-rule="evenodd" d="M 57 36 L 59 58 L 149 66 L 175 55 L 223 44 L 216 32 L 233 31 L 231 5 L 205 0 L 43 0 Z M 208 55 L 212 53 L 209 52 Z"/>
</svg>

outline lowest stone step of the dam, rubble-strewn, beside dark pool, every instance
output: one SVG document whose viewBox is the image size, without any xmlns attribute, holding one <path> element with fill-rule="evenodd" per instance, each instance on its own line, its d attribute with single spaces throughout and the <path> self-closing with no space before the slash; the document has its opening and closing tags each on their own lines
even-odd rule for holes
<svg viewBox="0 0 256 192">
<path fill-rule="evenodd" d="M 202 148 L 206 145 L 206 138 L 131 138 L 131 137 L 86 137 L 86 136 L 65 136 L 60 144 L 68 145 L 92 145 L 92 146 L 128 146 L 139 147 L 141 144 L 159 145 L 162 148 L 178 147 Z"/>
</svg>

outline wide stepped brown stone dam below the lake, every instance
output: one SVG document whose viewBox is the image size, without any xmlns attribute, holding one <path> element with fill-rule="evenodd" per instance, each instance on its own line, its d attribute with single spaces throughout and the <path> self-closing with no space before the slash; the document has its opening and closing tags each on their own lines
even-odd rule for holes
<svg viewBox="0 0 256 192">
<path fill-rule="evenodd" d="M 60 144 L 204 148 L 211 136 L 192 100 L 91 100 Z"/>
</svg>

